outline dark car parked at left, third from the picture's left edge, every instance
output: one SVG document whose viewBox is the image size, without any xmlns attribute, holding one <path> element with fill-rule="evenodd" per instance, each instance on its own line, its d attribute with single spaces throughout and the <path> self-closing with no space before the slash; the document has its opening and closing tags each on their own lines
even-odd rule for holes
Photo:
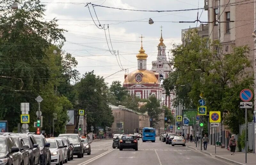
<svg viewBox="0 0 256 165">
<path fill-rule="evenodd" d="M 31 133 L 18 133 L 22 137 L 25 145 L 28 145 L 30 164 L 40 164 L 40 148 L 34 135 Z"/>
</svg>

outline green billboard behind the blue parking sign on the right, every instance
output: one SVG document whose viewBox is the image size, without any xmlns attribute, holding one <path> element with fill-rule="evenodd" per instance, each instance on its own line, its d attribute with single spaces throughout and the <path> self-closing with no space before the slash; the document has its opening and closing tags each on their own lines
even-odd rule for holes
<svg viewBox="0 0 256 165">
<path fill-rule="evenodd" d="M 182 110 L 182 126 L 194 126 L 196 124 L 197 109 Z M 194 118 L 194 123 L 193 119 Z"/>
</svg>

